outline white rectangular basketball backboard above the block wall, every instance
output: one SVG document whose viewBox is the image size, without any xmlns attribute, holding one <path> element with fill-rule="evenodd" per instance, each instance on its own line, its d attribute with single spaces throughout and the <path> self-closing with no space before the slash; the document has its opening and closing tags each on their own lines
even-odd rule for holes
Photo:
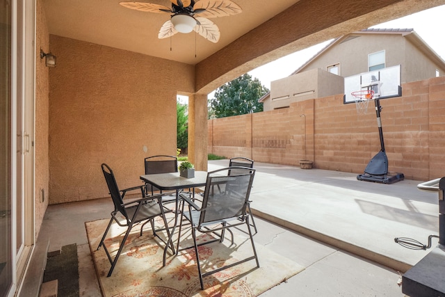
<svg viewBox="0 0 445 297">
<path fill-rule="evenodd" d="M 402 95 L 401 65 L 345 77 L 344 86 L 343 104 L 355 103 L 356 98 L 351 93 L 359 90 L 373 90 L 373 99 L 400 97 Z"/>
</svg>

